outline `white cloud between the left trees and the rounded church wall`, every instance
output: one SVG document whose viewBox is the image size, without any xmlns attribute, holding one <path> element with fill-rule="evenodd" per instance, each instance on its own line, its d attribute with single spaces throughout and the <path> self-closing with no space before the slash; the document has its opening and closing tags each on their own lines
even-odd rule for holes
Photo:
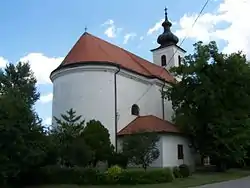
<svg viewBox="0 0 250 188">
<path fill-rule="evenodd" d="M 63 61 L 63 57 L 47 57 L 42 53 L 30 53 L 20 58 L 22 62 L 29 62 L 38 84 L 50 84 L 50 73 Z"/>
</svg>

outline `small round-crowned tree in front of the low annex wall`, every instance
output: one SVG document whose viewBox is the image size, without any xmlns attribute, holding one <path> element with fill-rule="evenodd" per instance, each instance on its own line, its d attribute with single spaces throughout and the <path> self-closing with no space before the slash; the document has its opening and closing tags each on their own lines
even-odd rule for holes
<svg viewBox="0 0 250 188">
<path fill-rule="evenodd" d="M 155 133 L 139 132 L 125 136 L 123 139 L 123 152 L 131 163 L 147 167 L 156 160 L 159 155 L 157 142 L 159 137 Z"/>
</svg>

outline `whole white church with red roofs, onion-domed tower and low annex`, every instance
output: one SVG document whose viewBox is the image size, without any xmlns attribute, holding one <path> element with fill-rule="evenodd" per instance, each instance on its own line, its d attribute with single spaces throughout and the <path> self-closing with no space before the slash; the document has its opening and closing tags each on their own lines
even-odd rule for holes
<svg viewBox="0 0 250 188">
<path fill-rule="evenodd" d="M 189 140 L 173 124 L 171 101 L 161 94 L 176 81 L 168 70 L 185 55 L 171 26 L 165 10 L 153 62 L 85 32 L 51 73 L 52 116 L 73 108 L 86 121 L 99 120 L 116 148 L 125 135 L 156 132 L 160 156 L 153 167 L 193 165 Z"/>
</svg>

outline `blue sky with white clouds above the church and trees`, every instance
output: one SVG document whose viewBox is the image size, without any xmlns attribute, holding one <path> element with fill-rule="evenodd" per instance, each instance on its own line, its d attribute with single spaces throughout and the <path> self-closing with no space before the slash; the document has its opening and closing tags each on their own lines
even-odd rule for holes
<svg viewBox="0 0 250 188">
<path fill-rule="evenodd" d="M 52 97 L 48 75 L 67 55 L 85 26 L 89 33 L 152 60 L 150 49 L 157 47 L 155 41 L 162 32 L 158 26 L 167 6 L 172 31 L 180 40 L 187 36 L 182 47 L 188 52 L 192 52 L 192 44 L 197 40 L 216 40 L 224 52 L 243 50 L 248 55 L 250 26 L 245 23 L 250 16 L 249 0 L 211 0 L 192 30 L 190 26 L 204 0 L 155 2 L 2 0 L 0 67 L 20 59 L 31 63 L 41 92 L 36 109 L 48 123 Z"/>
</svg>

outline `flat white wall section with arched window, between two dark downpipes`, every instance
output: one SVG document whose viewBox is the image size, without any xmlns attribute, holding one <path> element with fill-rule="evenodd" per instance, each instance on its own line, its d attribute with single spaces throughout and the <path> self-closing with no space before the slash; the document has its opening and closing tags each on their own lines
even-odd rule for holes
<svg viewBox="0 0 250 188">
<path fill-rule="evenodd" d="M 137 116 L 131 115 L 131 107 L 137 104 L 140 116 L 154 115 L 162 118 L 161 87 L 149 82 L 118 74 L 117 105 L 118 131 L 127 126 Z"/>
</svg>

